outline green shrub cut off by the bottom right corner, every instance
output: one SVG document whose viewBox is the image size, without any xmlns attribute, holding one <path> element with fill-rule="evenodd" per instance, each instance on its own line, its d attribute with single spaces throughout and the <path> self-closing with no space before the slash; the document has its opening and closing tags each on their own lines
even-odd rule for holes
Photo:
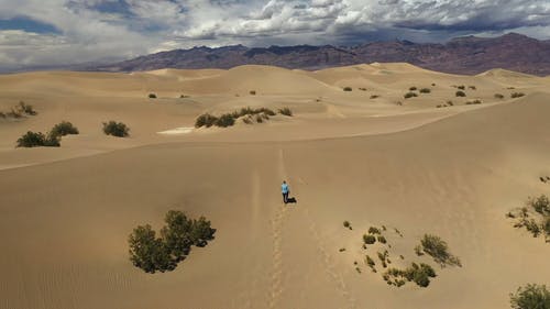
<svg viewBox="0 0 550 309">
<path fill-rule="evenodd" d="M 510 306 L 514 309 L 549 309 L 550 291 L 546 285 L 527 284 L 510 294 Z"/>
</svg>

